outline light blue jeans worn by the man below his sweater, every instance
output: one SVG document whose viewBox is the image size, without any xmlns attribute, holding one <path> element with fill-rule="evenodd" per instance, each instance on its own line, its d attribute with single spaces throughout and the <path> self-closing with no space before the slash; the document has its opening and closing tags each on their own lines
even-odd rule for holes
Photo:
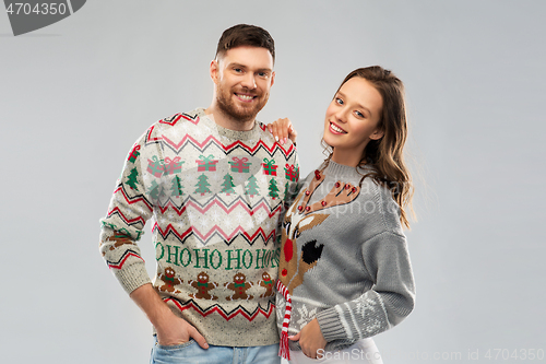
<svg viewBox="0 0 546 364">
<path fill-rule="evenodd" d="M 202 349 L 193 339 L 164 347 L 154 337 L 150 364 L 280 364 L 278 344 L 265 347 L 215 347 Z"/>
</svg>

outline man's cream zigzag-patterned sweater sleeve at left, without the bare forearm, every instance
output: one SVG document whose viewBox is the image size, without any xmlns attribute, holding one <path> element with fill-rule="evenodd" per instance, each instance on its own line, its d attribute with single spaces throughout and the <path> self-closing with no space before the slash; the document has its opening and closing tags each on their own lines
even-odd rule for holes
<svg viewBox="0 0 546 364">
<path fill-rule="evenodd" d="M 136 244 L 153 212 L 152 199 L 147 191 L 150 186 L 146 186 L 150 184 L 145 185 L 143 176 L 150 157 L 150 153 L 146 153 L 149 151 L 145 151 L 146 134 L 147 132 L 129 152 L 116 183 L 108 212 L 100 220 L 99 250 L 127 293 L 151 282 Z M 157 156 L 155 160 L 157 161 Z"/>
</svg>

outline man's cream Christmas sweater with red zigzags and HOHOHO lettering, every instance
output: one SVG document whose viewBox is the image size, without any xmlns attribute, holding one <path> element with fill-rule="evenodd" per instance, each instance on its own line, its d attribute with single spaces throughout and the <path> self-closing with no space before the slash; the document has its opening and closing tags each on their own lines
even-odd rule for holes
<svg viewBox="0 0 546 364">
<path fill-rule="evenodd" d="M 131 148 L 102 220 L 100 251 L 127 292 L 151 282 L 138 240 L 154 218 L 153 284 L 173 312 L 211 344 L 278 342 L 277 221 L 298 177 L 295 146 L 263 125 L 240 132 L 203 109 L 176 114 Z"/>
</svg>

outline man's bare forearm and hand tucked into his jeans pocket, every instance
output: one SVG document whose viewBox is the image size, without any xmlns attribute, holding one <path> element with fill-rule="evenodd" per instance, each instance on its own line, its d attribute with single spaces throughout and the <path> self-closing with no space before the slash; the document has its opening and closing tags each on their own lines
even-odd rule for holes
<svg viewBox="0 0 546 364">
<path fill-rule="evenodd" d="M 185 319 L 173 314 L 152 284 L 141 285 L 131 292 L 130 297 L 146 314 L 155 327 L 159 344 L 177 345 L 193 338 L 201 348 L 209 349 L 203 336 Z"/>
</svg>

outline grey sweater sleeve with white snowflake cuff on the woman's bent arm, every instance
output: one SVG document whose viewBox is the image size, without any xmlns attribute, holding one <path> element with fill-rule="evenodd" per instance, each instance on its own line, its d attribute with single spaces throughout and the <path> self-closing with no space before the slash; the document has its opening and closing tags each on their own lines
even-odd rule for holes
<svg viewBox="0 0 546 364">
<path fill-rule="evenodd" d="M 329 343 L 351 344 L 376 336 L 413 310 L 415 284 L 405 237 L 383 232 L 368 239 L 361 251 L 373 285 L 358 298 L 317 315 Z"/>
</svg>

